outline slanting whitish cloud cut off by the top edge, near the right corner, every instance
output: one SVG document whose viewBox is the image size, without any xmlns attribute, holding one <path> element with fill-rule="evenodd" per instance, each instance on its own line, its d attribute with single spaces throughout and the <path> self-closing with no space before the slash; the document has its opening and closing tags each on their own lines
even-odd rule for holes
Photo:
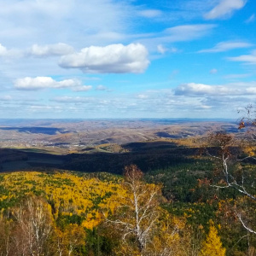
<svg viewBox="0 0 256 256">
<path fill-rule="evenodd" d="M 247 0 L 220 0 L 211 11 L 204 15 L 207 20 L 230 17 L 234 11 L 245 6 Z"/>
</svg>

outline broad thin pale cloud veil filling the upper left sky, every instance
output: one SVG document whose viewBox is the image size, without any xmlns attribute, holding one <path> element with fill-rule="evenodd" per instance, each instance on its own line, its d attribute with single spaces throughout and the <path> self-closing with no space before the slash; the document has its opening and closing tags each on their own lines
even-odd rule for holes
<svg viewBox="0 0 256 256">
<path fill-rule="evenodd" d="M 111 44 L 111 32 L 127 32 L 135 8 L 113 0 L 1 0 L 0 38 L 13 47 L 73 41 L 72 45 Z M 98 35 L 96 38 L 95 36 Z M 17 38 L 19 40 L 17 40 Z M 96 40 L 97 39 L 97 40 Z M 111 43 L 109 43 L 111 42 Z"/>
</svg>

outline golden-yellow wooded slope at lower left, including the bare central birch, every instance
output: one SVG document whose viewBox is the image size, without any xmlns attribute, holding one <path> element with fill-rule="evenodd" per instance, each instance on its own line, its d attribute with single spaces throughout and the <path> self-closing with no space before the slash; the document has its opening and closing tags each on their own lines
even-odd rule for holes
<svg viewBox="0 0 256 256">
<path fill-rule="evenodd" d="M 125 178 L 71 172 L 0 176 L 2 255 L 183 255 L 185 219 L 137 166 Z"/>
</svg>

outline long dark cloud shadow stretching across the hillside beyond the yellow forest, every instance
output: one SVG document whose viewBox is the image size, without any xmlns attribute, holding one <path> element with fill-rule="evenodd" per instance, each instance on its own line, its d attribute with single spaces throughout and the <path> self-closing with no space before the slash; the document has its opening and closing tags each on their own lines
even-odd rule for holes
<svg viewBox="0 0 256 256">
<path fill-rule="evenodd" d="M 180 164 L 190 164 L 195 160 L 196 148 L 179 148 L 175 143 L 129 143 L 123 145 L 126 153 L 91 154 L 47 154 L 44 151 L 24 151 L 22 149 L 0 149 L 1 172 L 20 170 L 49 170 L 50 168 L 79 172 L 110 172 L 122 174 L 124 167 L 137 165 L 143 172 L 165 169 Z"/>
</svg>

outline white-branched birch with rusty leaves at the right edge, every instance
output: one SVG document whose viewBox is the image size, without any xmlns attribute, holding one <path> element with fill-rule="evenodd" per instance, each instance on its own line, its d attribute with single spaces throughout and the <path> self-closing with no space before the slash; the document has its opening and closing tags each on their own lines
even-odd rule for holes
<svg viewBox="0 0 256 256">
<path fill-rule="evenodd" d="M 239 127 L 242 128 L 244 126 L 245 124 L 242 123 Z M 219 180 L 217 183 L 212 183 L 212 187 L 216 189 L 236 189 L 251 202 L 256 202 L 255 171 L 251 172 L 247 169 L 247 166 L 241 165 L 246 160 L 255 160 L 251 150 L 248 150 L 247 147 L 247 140 L 245 142 L 234 135 L 217 132 L 207 137 L 205 152 L 207 156 L 217 160 L 220 165 Z M 246 212 L 244 209 L 236 210 L 236 217 L 248 232 L 256 235 L 255 229 L 247 225 L 249 218 L 242 217 L 244 212 Z"/>
</svg>

